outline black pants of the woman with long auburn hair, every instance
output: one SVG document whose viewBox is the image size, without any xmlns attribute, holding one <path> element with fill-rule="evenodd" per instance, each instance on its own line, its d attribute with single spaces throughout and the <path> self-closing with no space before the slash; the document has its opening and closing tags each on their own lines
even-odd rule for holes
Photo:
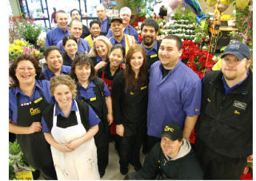
<svg viewBox="0 0 256 181">
<path fill-rule="evenodd" d="M 136 136 L 123 136 L 118 138 L 119 140 L 119 156 L 120 167 L 128 167 L 129 162 L 134 167 L 140 167 L 139 151 L 142 147 L 143 135 L 138 134 Z"/>
</svg>

